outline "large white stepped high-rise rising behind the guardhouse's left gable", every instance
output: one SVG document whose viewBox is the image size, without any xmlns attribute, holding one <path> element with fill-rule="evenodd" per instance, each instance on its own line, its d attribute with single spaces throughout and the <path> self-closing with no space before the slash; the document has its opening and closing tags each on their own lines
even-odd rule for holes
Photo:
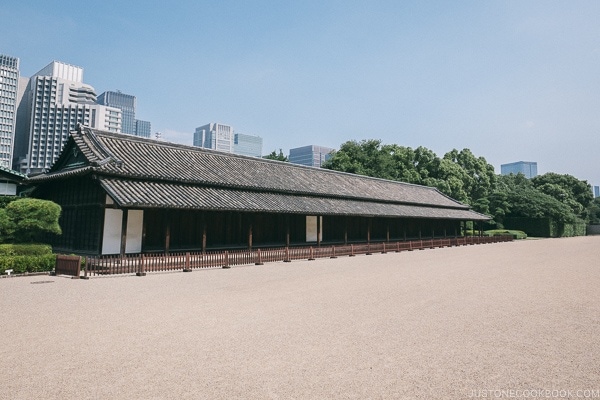
<svg viewBox="0 0 600 400">
<path fill-rule="evenodd" d="M 77 124 L 121 132 L 121 110 L 96 104 L 83 68 L 58 61 L 27 81 L 18 107 L 13 165 L 28 174 L 52 166 Z"/>
</svg>

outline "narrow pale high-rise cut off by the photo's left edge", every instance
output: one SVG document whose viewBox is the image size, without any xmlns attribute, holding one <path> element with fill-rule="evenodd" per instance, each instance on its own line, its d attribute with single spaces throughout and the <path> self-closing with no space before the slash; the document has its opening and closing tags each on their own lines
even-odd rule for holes
<svg viewBox="0 0 600 400">
<path fill-rule="evenodd" d="M 12 166 L 18 92 L 19 59 L 0 54 L 0 167 Z"/>
</svg>

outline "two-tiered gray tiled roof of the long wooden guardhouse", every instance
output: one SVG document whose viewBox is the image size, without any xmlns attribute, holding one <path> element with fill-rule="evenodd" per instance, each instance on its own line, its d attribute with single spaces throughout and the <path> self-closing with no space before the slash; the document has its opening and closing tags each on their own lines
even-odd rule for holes
<svg viewBox="0 0 600 400">
<path fill-rule="evenodd" d="M 63 154 L 32 181 L 93 172 L 123 207 L 489 219 L 426 186 L 89 128 L 71 137 L 89 165 L 61 169 Z"/>
</svg>

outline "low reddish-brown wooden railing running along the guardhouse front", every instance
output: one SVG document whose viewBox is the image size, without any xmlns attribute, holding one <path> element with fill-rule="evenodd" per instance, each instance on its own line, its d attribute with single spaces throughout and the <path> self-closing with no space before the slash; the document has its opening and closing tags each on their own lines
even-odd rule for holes
<svg viewBox="0 0 600 400">
<path fill-rule="evenodd" d="M 142 253 L 88 256 L 85 258 L 84 276 L 136 274 L 161 271 L 192 271 L 202 268 L 230 268 L 236 265 L 265 262 L 289 262 L 373 254 L 433 249 L 436 247 L 466 246 L 512 241 L 512 236 L 467 236 L 459 238 L 423 239 L 399 242 L 360 243 L 337 246 L 269 247 L 244 250 L 180 253 Z"/>
</svg>

